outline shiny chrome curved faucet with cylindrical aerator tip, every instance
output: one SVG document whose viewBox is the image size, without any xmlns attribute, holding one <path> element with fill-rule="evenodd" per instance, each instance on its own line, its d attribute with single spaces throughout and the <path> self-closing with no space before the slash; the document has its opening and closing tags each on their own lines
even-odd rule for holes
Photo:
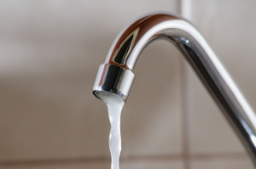
<svg viewBox="0 0 256 169">
<path fill-rule="evenodd" d="M 172 42 L 193 67 L 256 166 L 255 113 L 199 31 L 177 14 L 146 14 L 119 33 L 99 67 L 93 86 L 96 98 L 124 104 L 135 79 L 132 70 L 139 55 L 158 38 Z M 160 64 L 158 59 L 155 62 Z"/>
</svg>

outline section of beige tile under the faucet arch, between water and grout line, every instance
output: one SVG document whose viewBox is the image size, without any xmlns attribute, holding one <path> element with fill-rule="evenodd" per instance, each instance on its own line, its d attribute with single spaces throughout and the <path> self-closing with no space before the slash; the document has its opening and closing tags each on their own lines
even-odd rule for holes
<svg viewBox="0 0 256 169">
<path fill-rule="evenodd" d="M 148 54 L 165 61 L 157 63 L 156 58 L 148 57 Z M 122 113 L 124 156 L 181 154 L 182 103 L 178 58 L 177 50 L 162 41 L 150 44 L 138 60 L 137 78 Z"/>
</svg>

